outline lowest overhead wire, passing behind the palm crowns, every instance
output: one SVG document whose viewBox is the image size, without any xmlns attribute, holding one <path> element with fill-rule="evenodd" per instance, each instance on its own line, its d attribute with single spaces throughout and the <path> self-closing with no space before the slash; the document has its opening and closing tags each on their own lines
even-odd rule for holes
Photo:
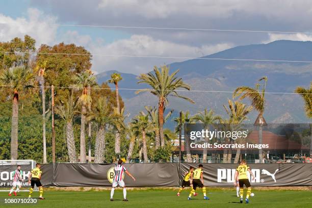
<svg viewBox="0 0 312 208">
<path fill-rule="evenodd" d="M 14 87 L 11 85 L 0 85 L 0 87 Z M 41 86 L 33 86 L 34 88 L 41 88 Z M 51 88 L 51 86 L 44 86 L 44 88 Z M 70 87 L 57 87 L 54 86 L 54 88 L 60 88 L 60 89 L 84 89 L 83 87 L 75 87 L 75 86 L 70 86 Z M 116 88 L 101 88 L 101 87 L 90 87 L 88 89 L 94 89 L 94 90 L 116 90 Z M 171 90 L 155 90 L 155 89 L 134 89 L 134 88 L 118 88 L 118 90 L 132 90 L 132 91 L 138 91 L 138 90 L 146 90 L 146 91 L 171 91 Z M 204 93 L 234 93 L 235 91 L 214 91 L 214 90 L 174 90 L 177 92 L 204 92 Z M 243 91 L 242 93 L 246 93 Z M 248 93 L 258 93 L 258 92 L 248 92 Z M 300 95 L 309 95 L 312 93 L 296 93 L 296 92 L 265 92 L 265 94 L 300 94 Z"/>
</svg>

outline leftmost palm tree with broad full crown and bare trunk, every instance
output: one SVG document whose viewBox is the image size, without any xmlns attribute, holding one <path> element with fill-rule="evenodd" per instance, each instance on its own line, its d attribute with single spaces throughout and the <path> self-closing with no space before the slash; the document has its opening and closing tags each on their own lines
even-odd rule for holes
<svg viewBox="0 0 312 208">
<path fill-rule="evenodd" d="M 11 160 L 17 160 L 18 153 L 18 96 L 19 93 L 33 86 L 34 74 L 24 66 L 5 69 L 0 75 L 2 87 L 11 89 L 13 93 L 12 126 L 11 126 Z"/>
</svg>

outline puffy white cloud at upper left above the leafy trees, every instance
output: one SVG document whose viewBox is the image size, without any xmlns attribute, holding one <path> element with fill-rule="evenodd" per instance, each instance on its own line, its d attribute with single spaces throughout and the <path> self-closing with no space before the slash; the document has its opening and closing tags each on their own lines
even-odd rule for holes
<svg viewBox="0 0 312 208">
<path fill-rule="evenodd" d="M 10 22 L 10 24 L 1 24 L 0 39 L 9 41 L 14 37 L 23 38 L 24 35 L 30 35 L 36 39 L 37 46 L 55 41 L 57 26 L 56 17 L 44 15 L 38 9 L 29 8 L 27 17 L 18 17 L 16 19 L 0 14 L 0 22 Z M 38 25 L 40 24 L 40 25 Z"/>
</svg>

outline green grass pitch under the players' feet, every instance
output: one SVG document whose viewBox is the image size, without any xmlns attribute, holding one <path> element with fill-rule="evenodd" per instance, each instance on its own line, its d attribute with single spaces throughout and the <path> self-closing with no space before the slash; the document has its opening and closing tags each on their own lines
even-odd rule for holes
<svg viewBox="0 0 312 208">
<path fill-rule="evenodd" d="M 45 191 L 45 200 L 40 200 L 35 207 L 49 208 L 86 208 L 86 207 L 312 207 L 312 191 L 253 191 L 254 197 L 250 197 L 250 203 L 239 203 L 236 191 L 222 191 L 220 189 L 207 188 L 207 196 L 210 200 L 203 200 L 201 189 L 196 190 L 198 196 L 187 200 L 189 189 L 176 196 L 175 190 L 128 190 L 129 201 L 122 201 L 122 189 L 115 189 L 114 201 L 110 201 L 110 191 Z M 0 192 L 0 198 L 7 198 L 8 193 Z M 28 192 L 20 192 L 17 197 L 27 197 Z M 34 192 L 33 196 L 38 197 Z M 13 198 L 15 196 L 12 196 Z M 1 207 L 30 207 L 30 205 L 8 205 Z"/>
</svg>

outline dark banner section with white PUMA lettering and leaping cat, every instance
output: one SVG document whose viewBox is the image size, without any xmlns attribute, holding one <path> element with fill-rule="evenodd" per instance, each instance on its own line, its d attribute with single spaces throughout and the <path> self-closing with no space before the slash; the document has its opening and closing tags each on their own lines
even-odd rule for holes
<svg viewBox="0 0 312 208">
<path fill-rule="evenodd" d="M 199 164 L 182 163 L 181 173 L 190 166 L 197 168 Z M 312 164 L 250 164 L 255 176 L 251 180 L 254 187 L 273 186 L 312 186 Z M 204 185 L 207 187 L 232 187 L 237 164 L 203 164 Z"/>
</svg>

